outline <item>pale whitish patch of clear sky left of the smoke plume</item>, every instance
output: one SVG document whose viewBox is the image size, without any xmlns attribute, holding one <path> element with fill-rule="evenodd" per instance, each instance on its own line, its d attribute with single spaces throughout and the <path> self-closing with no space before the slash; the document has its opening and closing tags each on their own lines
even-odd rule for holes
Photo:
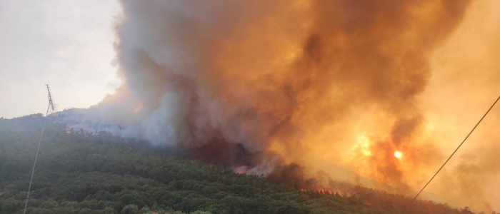
<svg viewBox="0 0 500 214">
<path fill-rule="evenodd" d="M 119 85 L 112 66 L 116 1 L 0 0 L 0 117 L 98 103 Z"/>
</svg>

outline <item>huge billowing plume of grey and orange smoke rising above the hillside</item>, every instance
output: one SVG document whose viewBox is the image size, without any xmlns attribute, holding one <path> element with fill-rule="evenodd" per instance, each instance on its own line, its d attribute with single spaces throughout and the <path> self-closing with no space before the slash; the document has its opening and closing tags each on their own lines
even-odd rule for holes
<svg viewBox="0 0 500 214">
<path fill-rule="evenodd" d="M 121 6 L 124 84 L 91 110 L 152 143 L 241 173 L 321 172 L 405 194 L 449 154 L 424 92 L 468 0 Z"/>
</svg>

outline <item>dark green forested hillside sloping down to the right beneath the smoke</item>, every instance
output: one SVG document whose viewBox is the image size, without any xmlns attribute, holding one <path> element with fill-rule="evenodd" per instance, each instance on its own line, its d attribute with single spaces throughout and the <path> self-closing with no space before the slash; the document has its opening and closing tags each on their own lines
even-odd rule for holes
<svg viewBox="0 0 500 214">
<path fill-rule="evenodd" d="M 43 123 L 41 114 L 0 118 L 0 213 L 23 213 Z M 411 200 L 359 186 L 304 191 L 146 141 L 65 128 L 47 120 L 26 213 L 401 213 Z M 406 213 L 472 212 L 417 200 Z"/>
</svg>

